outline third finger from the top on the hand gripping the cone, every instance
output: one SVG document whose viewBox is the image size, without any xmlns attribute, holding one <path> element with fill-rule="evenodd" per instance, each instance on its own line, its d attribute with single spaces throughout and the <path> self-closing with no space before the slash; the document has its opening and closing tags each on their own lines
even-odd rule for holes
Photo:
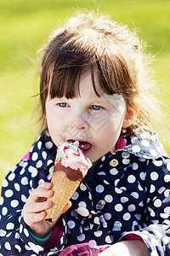
<svg viewBox="0 0 170 256">
<path fill-rule="evenodd" d="M 24 207 L 24 212 L 26 213 L 37 213 L 47 210 L 52 206 L 51 201 L 43 201 L 43 202 L 33 202 L 26 204 Z"/>
</svg>

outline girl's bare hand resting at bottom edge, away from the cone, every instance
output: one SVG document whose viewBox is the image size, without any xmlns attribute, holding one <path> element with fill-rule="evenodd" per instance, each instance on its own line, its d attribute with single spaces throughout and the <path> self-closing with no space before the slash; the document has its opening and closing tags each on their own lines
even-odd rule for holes
<svg viewBox="0 0 170 256">
<path fill-rule="evenodd" d="M 107 248 L 99 256 L 149 256 L 148 248 L 142 240 L 119 241 Z"/>
</svg>

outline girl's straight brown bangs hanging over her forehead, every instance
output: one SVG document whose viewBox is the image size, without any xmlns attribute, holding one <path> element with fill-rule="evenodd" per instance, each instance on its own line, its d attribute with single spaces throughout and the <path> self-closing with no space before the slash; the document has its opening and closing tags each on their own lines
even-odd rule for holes
<svg viewBox="0 0 170 256">
<path fill-rule="evenodd" d="M 63 49 L 59 55 L 54 64 L 53 76 L 49 86 L 49 96 L 51 98 L 65 96 L 69 99 L 80 96 L 79 83 L 81 75 L 89 70 L 94 92 L 97 96 L 102 93 L 107 95 L 122 94 L 125 81 L 122 83 L 120 78 L 117 81 L 116 72 L 120 68 L 121 70 L 118 72 L 122 73 L 123 67 L 120 67 L 120 63 L 117 63 L 117 65 L 114 63 L 113 67 L 113 63 L 108 61 L 108 55 L 106 55 L 105 50 L 99 56 L 96 55 L 95 49 L 90 53 L 88 52 L 88 54 L 86 50 Z M 95 83 L 96 76 L 99 81 L 98 86 Z"/>
</svg>

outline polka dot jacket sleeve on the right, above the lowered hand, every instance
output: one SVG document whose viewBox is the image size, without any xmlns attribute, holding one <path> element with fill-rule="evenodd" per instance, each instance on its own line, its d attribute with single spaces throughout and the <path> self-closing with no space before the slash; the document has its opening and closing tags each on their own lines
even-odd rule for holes
<svg viewBox="0 0 170 256">
<path fill-rule="evenodd" d="M 150 255 L 170 255 L 170 160 L 160 157 L 148 160 L 145 176 L 145 224 L 144 229 L 125 232 L 140 236 Z"/>
</svg>

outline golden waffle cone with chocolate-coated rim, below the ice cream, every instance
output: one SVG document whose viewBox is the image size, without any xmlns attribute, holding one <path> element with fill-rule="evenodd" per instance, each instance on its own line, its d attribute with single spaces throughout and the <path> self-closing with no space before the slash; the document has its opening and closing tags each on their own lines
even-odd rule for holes
<svg viewBox="0 0 170 256">
<path fill-rule="evenodd" d="M 82 174 L 78 170 L 72 170 L 70 167 L 62 166 L 60 163 L 54 166 L 54 173 L 51 179 L 54 195 L 48 199 L 52 201 L 52 207 L 46 211 L 46 220 L 54 222 L 59 218 L 66 203 L 82 182 L 82 178 Z"/>
</svg>

